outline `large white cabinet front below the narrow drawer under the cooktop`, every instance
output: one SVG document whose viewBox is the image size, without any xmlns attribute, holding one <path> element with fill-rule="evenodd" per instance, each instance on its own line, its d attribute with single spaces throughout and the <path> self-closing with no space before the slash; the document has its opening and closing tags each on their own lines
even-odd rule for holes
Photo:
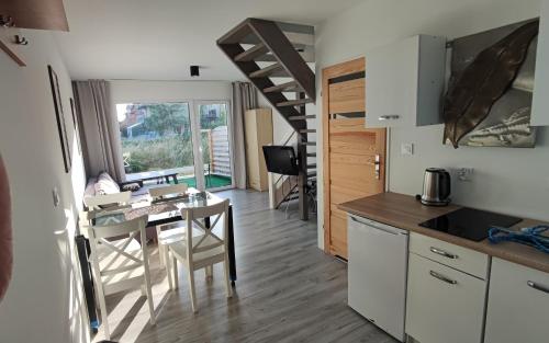
<svg viewBox="0 0 549 343">
<path fill-rule="evenodd" d="M 406 333 L 421 343 L 480 343 L 485 293 L 484 281 L 411 253 Z"/>
</svg>

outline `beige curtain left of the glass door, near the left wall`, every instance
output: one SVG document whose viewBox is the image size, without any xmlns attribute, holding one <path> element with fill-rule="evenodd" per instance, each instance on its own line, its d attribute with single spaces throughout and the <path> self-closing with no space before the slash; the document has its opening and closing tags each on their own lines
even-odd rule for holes
<svg viewBox="0 0 549 343">
<path fill-rule="evenodd" d="M 107 171 L 115 181 L 124 181 L 120 129 L 116 113 L 112 111 L 109 82 L 74 81 L 72 90 L 88 176 Z"/>
</svg>

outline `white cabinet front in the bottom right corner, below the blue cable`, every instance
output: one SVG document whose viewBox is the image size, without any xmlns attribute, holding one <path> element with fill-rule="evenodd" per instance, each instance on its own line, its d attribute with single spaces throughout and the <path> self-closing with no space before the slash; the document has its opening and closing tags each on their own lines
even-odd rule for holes
<svg viewBox="0 0 549 343">
<path fill-rule="evenodd" d="M 492 259 L 485 343 L 549 342 L 549 274 Z"/>
</svg>

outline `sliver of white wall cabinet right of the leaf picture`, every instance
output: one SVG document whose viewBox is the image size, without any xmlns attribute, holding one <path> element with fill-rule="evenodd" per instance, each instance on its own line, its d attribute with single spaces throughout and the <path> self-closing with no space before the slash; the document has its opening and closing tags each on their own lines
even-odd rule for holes
<svg viewBox="0 0 549 343">
<path fill-rule="evenodd" d="M 541 0 L 530 125 L 549 125 L 549 0 Z"/>
</svg>

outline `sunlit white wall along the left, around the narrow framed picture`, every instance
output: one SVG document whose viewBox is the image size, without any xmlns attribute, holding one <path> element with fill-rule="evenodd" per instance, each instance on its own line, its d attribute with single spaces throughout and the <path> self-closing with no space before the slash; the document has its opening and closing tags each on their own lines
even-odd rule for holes
<svg viewBox="0 0 549 343">
<path fill-rule="evenodd" d="M 0 304 L 0 342 L 86 342 L 75 222 L 85 186 L 75 142 L 70 79 L 45 32 L 25 33 L 27 67 L 0 52 L 0 153 L 12 192 L 14 270 Z M 72 171 L 65 173 L 47 65 L 63 94 Z M 52 190 L 60 204 L 54 207 Z"/>
</svg>

